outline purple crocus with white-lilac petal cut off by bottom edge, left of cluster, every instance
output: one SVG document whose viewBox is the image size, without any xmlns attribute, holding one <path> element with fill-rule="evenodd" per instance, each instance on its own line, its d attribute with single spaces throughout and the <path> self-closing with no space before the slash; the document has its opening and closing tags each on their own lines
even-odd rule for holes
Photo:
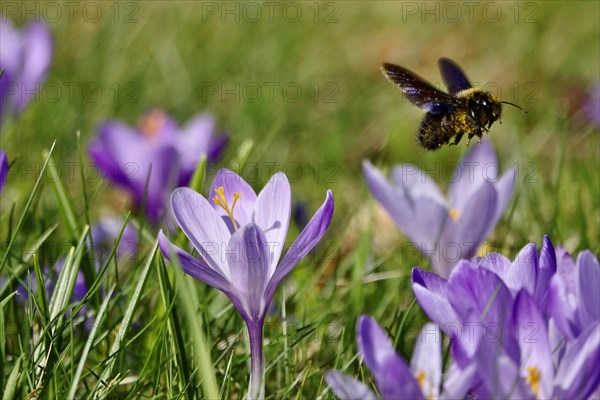
<svg viewBox="0 0 600 400">
<path fill-rule="evenodd" d="M 384 400 L 437 399 L 442 381 L 442 336 L 434 324 L 421 330 L 410 367 L 394 351 L 384 330 L 369 316 L 362 315 L 356 327 L 360 355 L 377 384 Z M 377 396 L 362 382 L 337 371 L 325 375 L 327 384 L 342 400 L 376 399 Z M 445 390 L 451 390 L 459 381 L 447 382 Z M 466 389 L 454 388 L 452 396 L 460 398 Z M 464 391 L 462 391 L 464 390 Z"/>
</svg>

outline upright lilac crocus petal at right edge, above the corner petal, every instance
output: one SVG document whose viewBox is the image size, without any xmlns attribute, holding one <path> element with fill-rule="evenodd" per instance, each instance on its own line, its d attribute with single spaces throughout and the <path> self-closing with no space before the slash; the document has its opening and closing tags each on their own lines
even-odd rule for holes
<svg viewBox="0 0 600 400">
<path fill-rule="evenodd" d="M 577 272 L 579 273 L 579 320 L 582 327 L 600 321 L 600 264 L 589 250 L 579 253 L 577 257 Z"/>
</svg>

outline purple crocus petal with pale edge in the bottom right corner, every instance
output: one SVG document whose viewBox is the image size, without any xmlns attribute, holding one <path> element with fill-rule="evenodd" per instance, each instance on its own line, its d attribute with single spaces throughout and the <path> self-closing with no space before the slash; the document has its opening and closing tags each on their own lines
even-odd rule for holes
<svg viewBox="0 0 600 400">
<path fill-rule="evenodd" d="M 600 384 L 600 324 L 587 327 L 567 344 L 556 371 L 553 398 L 587 399 Z"/>
</svg>

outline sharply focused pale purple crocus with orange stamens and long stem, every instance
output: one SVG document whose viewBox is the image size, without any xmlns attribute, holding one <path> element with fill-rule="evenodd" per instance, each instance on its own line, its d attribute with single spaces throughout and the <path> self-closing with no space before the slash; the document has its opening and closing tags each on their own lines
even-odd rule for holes
<svg viewBox="0 0 600 400">
<path fill-rule="evenodd" d="M 271 299 L 281 281 L 321 240 L 333 215 L 333 195 L 315 213 L 287 254 L 285 245 L 292 206 L 287 177 L 277 173 L 256 195 L 240 176 L 220 170 L 209 200 L 189 188 L 171 196 L 175 220 L 200 257 L 173 245 L 160 232 L 159 245 L 169 260 L 229 297 L 244 319 L 250 338 L 249 398 L 264 397 L 262 332 Z"/>
</svg>

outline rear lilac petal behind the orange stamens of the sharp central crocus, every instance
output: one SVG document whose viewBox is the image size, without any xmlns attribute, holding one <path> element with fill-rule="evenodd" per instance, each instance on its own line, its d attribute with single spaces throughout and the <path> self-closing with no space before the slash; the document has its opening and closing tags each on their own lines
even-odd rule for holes
<svg viewBox="0 0 600 400">
<path fill-rule="evenodd" d="M 225 210 L 212 202 L 212 199 L 217 196 L 216 189 L 219 187 L 223 187 L 225 199 L 230 207 L 233 205 L 233 194 L 240 194 L 240 198 L 233 210 L 233 216 L 235 217 L 237 225 L 244 226 L 252 222 L 252 212 L 254 211 L 254 204 L 256 203 L 257 196 L 250 185 L 248 185 L 241 176 L 226 168 L 220 169 L 219 172 L 217 172 L 211 185 L 209 196 L 209 199 L 211 199 L 211 206 L 217 211 L 217 214 L 222 216 L 227 226 L 229 226 L 230 230 L 233 232 L 233 226 Z"/>
</svg>

